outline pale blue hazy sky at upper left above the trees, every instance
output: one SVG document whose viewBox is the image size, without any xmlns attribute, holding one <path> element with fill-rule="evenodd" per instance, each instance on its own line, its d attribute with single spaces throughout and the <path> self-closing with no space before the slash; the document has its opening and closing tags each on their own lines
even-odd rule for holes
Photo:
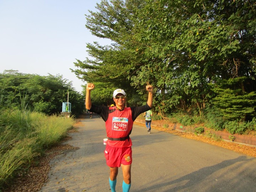
<svg viewBox="0 0 256 192">
<path fill-rule="evenodd" d="M 71 69 L 89 57 L 86 43 L 110 44 L 85 27 L 88 10 L 101 0 L 0 0 L 0 73 L 18 70 L 63 75 L 81 92 L 86 82 Z M 89 57 L 90 58 L 90 57 Z"/>
</svg>

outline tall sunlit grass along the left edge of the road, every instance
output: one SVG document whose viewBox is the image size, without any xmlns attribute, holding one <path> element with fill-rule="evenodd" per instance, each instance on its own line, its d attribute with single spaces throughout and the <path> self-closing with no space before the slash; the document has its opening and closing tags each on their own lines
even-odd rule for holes
<svg viewBox="0 0 256 192">
<path fill-rule="evenodd" d="M 1 107 L 1 105 L 0 105 Z M 73 118 L 58 118 L 31 112 L 26 105 L 0 113 L 0 191 L 11 185 L 21 167 L 60 142 L 75 123 Z"/>
</svg>

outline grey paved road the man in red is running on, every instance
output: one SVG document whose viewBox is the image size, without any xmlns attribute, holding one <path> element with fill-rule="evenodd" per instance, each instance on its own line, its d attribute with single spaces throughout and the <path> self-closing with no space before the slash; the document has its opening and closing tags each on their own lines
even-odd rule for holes
<svg viewBox="0 0 256 192">
<path fill-rule="evenodd" d="M 81 120 L 64 144 L 78 147 L 53 159 L 42 192 L 110 192 L 105 164 L 105 123 Z M 255 192 L 256 158 L 177 135 L 134 125 L 130 192 Z M 116 191 L 122 191 L 119 168 Z"/>
</svg>

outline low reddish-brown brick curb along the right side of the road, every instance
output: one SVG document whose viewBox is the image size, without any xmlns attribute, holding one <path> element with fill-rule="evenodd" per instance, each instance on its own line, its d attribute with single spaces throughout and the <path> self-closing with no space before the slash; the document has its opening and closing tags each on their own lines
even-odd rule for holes
<svg viewBox="0 0 256 192">
<path fill-rule="evenodd" d="M 144 119 L 136 119 L 135 122 L 145 123 L 145 120 Z M 154 123 L 154 121 L 152 121 L 151 126 L 162 127 L 160 124 Z M 197 127 L 181 126 L 176 123 L 168 124 L 168 129 L 177 130 L 177 131 L 181 131 L 181 132 L 194 133 L 196 128 Z M 226 142 L 238 143 L 241 145 L 247 145 L 247 146 L 256 148 L 256 137 L 255 136 L 230 134 L 230 133 L 227 133 L 224 131 L 215 131 L 215 130 L 208 129 L 205 127 L 204 127 L 204 133 L 202 133 L 202 134 L 203 135 L 206 135 L 206 134 L 216 135 L 217 137 L 221 137 Z M 231 140 L 231 138 L 233 140 Z"/>
</svg>

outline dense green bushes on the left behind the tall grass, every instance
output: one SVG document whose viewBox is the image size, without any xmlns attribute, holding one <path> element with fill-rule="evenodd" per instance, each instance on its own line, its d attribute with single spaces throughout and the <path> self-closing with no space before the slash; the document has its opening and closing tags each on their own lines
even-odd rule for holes
<svg viewBox="0 0 256 192">
<path fill-rule="evenodd" d="M 48 115 L 62 112 L 62 102 L 72 104 L 72 114 L 84 111 L 84 96 L 74 91 L 71 82 L 63 76 L 39 76 L 22 74 L 18 71 L 4 71 L 0 74 L 1 102 L 5 108 L 15 108 L 16 104 L 28 105 L 31 110 Z M 25 99 L 25 102 L 22 102 Z"/>
</svg>

